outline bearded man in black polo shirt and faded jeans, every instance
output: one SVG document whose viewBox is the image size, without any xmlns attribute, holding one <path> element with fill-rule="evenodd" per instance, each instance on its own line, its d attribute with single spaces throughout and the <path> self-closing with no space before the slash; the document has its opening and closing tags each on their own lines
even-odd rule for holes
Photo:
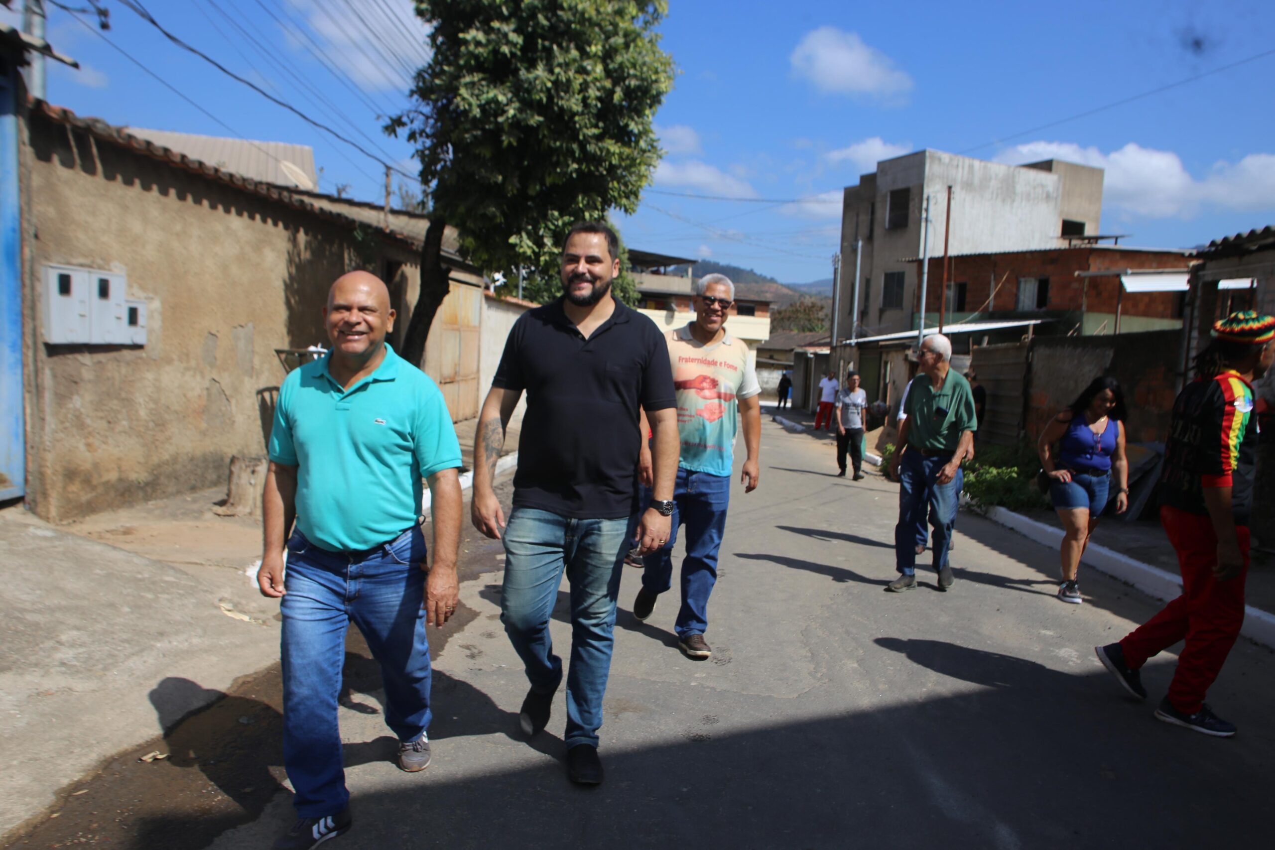
<svg viewBox="0 0 1275 850">
<path fill-rule="evenodd" d="M 635 540 L 641 554 L 668 540 L 678 454 L 668 348 L 655 322 L 611 296 L 618 273 L 609 227 L 571 228 L 562 247 L 564 297 L 525 312 L 505 343 L 479 414 L 470 505 L 474 526 L 505 543 L 500 618 L 532 683 L 519 712 L 527 735 L 548 723 L 562 681 L 550 616 L 564 571 L 571 584 L 564 738 L 567 774 L 590 785 L 602 781 L 598 728 L 623 558 Z M 492 480 L 524 390 L 506 524 Z M 654 432 L 649 506 L 638 503 L 639 407 Z"/>
</svg>

